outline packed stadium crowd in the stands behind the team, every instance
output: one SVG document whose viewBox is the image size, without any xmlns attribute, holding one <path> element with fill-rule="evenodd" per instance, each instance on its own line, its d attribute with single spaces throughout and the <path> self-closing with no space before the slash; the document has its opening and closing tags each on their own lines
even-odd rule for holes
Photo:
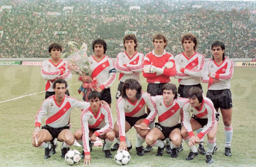
<svg viewBox="0 0 256 167">
<path fill-rule="evenodd" d="M 91 45 L 97 37 L 107 41 L 106 54 L 116 57 L 124 50 L 121 39 L 127 30 L 137 32 L 138 50 L 143 53 L 153 50 L 153 34 L 163 32 L 169 39 L 166 51 L 176 55 L 183 50 L 180 34 L 188 31 L 198 32 L 197 51 L 205 57 L 211 57 L 215 40 L 225 41 L 226 56 L 231 58 L 254 58 L 256 53 L 256 17 L 250 12 L 256 11 L 254 1 L 4 0 L 0 5 L 12 6 L 0 16 L 0 31 L 4 31 L 0 57 L 46 58 L 52 42 L 64 45 L 65 53 L 68 41 Z M 74 6 L 73 13 L 62 11 L 65 6 Z M 130 6 L 140 10 L 130 11 Z M 55 31 L 67 34 L 54 35 Z M 88 54 L 92 53 L 89 47 Z"/>
</svg>

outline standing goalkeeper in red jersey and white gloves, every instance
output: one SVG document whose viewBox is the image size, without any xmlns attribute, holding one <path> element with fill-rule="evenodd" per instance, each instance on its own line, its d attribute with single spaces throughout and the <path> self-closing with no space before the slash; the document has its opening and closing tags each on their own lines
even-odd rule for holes
<svg viewBox="0 0 256 167">
<path fill-rule="evenodd" d="M 150 96 L 162 95 L 162 87 L 170 82 L 170 77 L 176 75 L 174 57 L 164 49 L 168 40 L 164 34 L 153 36 L 154 50 L 146 55 L 143 63 L 143 76 L 147 78 L 147 92 Z M 148 114 L 150 110 L 147 108 Z M 150 129 L 155 127 L 155 120 L 149 123 Z M 169 146 L 169 145 L 168 145 Z M 153 147 L 147 146 L 144 151 L 150 152 Z"/>
</svg>

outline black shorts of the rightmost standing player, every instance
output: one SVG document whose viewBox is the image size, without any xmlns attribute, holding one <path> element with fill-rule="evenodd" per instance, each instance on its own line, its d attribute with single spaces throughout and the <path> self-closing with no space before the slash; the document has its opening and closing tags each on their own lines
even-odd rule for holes
<svg viewBox="0 0 256 167">
<path fill-rule="evenodd" d="M 232 108 L 232 97 L 229 89 L 208 90 L 206 97 L 212 100 L 214 108 L 229 109 Z"/>
</svg>

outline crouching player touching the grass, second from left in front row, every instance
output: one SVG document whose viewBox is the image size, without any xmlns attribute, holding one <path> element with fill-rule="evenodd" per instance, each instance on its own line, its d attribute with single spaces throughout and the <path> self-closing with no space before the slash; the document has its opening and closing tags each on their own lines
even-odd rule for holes
<svg viewBox="0 0 256 167">
<path fill-rule="evenodd" d="M 92 91 L 89 96 L 90 107 L 87 107 L 81 113 L 82 128 L 76 130 L 76 141 L 84 146 L 82 156 L 84 164 L 91 164 L 89 137 L 91 141 L 96 138 L 104 140 L 102 151 L 106 158 L 112 158 L 110 147 L 115 140 L 115 132 L 113 131 L 113 118 L 109 106 L 100 105 L 100 93 Z"/>
</svg>

